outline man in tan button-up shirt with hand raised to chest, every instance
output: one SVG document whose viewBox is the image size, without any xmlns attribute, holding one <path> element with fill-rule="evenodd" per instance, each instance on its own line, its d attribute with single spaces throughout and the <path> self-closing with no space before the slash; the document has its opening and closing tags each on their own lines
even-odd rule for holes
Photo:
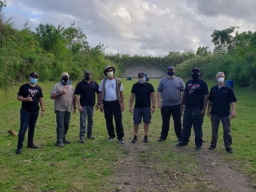
<svg viewBox="0 0 256 192">
<path fill-rule="evenodd" d="M 76 113 L 76 99 L 74 87 L 68 84 L 68 73 L 61 73 L 61 81 L 56 83 L 51 90 L 51 99 L 54 99 L 54 110 L 57 122 L 57 141 L 56 145 L 63 147 L 63 143 L 70 143 L 66 140 L 66 134 L 70 122 L 70 115 Z"/>
</svg>

